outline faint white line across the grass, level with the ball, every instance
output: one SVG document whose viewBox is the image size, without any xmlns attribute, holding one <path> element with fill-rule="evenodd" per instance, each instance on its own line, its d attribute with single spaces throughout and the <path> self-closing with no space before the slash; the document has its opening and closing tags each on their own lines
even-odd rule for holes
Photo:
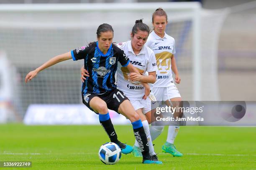
<svg viewBox="0 0 256 170">
<path fill-rule="evenodd" d="M 87 155 L 97 153 L 0 153 L 0 155 Z M 160 155 L 164 153 L 159 153 Z M 165 154 L 166 155 L 166 154 Z M 208 156 L 256 156 L 256 154 L 218 154 L 218 153 L 185 153 L 184 155 L 208 155 Z"/>
</svg>

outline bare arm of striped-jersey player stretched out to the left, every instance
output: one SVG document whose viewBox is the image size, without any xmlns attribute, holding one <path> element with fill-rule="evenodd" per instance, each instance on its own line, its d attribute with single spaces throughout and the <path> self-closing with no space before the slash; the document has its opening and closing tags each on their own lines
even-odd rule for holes
<svg viewBox="0 0 256 170">
<path fill-rule="evenodd" d="M 29 72 L 27 74 L 26 78 L 25 78 L 25 82 L 28 82 L 28 81 L 32 80 L 34 77 L 36 77 L 38 72 L 40 72 L 40 71 L 42 71 L 42 70 L 44 70 L 48 67 L 51 67 L 52 65 L 55 65 L 58 62 L 69 60 L 69 59 L 72 59 L 71 52 L 66 52 L 64 54 L 57 55 L 57 56 L 51 58 L 50 60 L 45 62 L 40 67 L 36 68 L 36 70 L 33 70 L 33 71 Z"/>
</svg>

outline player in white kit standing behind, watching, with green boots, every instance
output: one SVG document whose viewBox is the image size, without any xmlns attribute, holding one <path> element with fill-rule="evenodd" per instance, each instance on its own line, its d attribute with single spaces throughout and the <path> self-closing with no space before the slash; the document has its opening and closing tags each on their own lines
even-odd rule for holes
<svg viewBox="0 0 256 170">
<path fill-rule="evenodd" d="M 152 15 L 152 24 L 154 30 L 149 34 L 146 45 L 150 47 L 156 56 L 158 71 L 156 72 L 156 82 L 154 83 L 154 95 L 157 101 L 165 101 L 166 105 L 180 105 L 182 98 L 179 90 L 174 84 L 172 71 L 175 74 L 175 82 L 180 83 L 179 72 L 177 69 L 175 54 L 175 40 L 166 34 L 167 15 L 161 8 L 156 9 Z M 182 116 L 181 112 L 174 113 L 174 116 Z M 163 126 L 151 126 L 150 133 L 152 141 L 162 132 Z M 170 153 L 173 156 L 182 156 L 182 153 L 176 150 L 174 139 L 179 131 L 179 126 L 169 126 L 166 143 L 162 146 L 164 153 Z"/>
</svg>

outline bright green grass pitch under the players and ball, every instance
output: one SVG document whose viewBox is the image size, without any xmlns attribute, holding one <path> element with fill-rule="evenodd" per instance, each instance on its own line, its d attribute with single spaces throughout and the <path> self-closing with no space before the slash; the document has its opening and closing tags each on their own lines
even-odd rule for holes
<svg viewBox="0 0 256 170">
<path fill-rule="evenodd" d="M 133 145 L 131 125 L 115 125 L 119 140 Z M 122 155 L 115 165 L 98 158 L 108 136 L 100 125 L 0 125 L 0 161 L 32 161 L 28 170 L 238 170 L 256 169 L 256 127 L 180 127 L 175 140 L 182 158 L 161 153 L 167 127 L 153 143 L 163 165 L 144 165 L 141 158 Z"/>
</svg>

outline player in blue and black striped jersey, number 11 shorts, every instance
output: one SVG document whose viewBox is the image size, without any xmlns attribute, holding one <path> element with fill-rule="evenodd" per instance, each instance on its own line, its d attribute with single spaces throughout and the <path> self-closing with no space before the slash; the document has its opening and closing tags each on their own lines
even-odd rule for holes
<svg viewBox="0 0 256 170">
<path fill-rule="evenodd" d="M 89 71 L 90 77 L 82 84 L 82 101 L 90 110 L 99 114 L 100 124 L 108 134 L 111 142 L 116 143 L 122 150 L 122 153 L 131 153 L 133 148 L 125 145 L 118 140 L 114 126 L 108 114 L 108 109 L 115 110 L 125 115 L 131 120 L 133 125 L 134 136 L 141 144 L 140 148 L 143 155 L 142 163 L 155 163 L 149 155 L 148 141 L 142 122 L 133 109 L 131 102 L 118 90 L 115 85 L 115 72 L 117 70 L 117 62 L 126 67 L 129 72 L 139 74 L 138 70 L 133 67 L 128 57 L 125 56 L 123 50 L 112 44 L 113 28 L 109 24 L 102 24 L 97 29 L 97 42 L 89 45 L 78 47 L 71 52 L 57 55 L 45 62 L 26 75 L 25 82 L 32 80 L 38 72 L 55 65 L 58 62 L 73 59 L 84 60 L 84 68 Z M 146 94 L 149 94 L 149 86 L 145 85 Z"/>
</svg>

